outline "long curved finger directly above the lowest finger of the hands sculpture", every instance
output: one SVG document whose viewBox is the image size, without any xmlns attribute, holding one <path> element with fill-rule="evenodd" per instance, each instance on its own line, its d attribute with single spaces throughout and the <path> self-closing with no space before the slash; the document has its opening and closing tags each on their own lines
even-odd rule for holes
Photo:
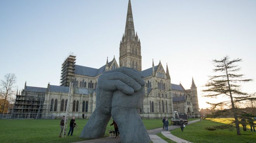
<svg viewBox="0 0 256 143">
<path fill-rule="evenodd" d="M 123 74 L 122 72 L 111 72 L 107 74 L 102 74 L 102 76 L 99 77 L 98 83 L 100 85 L 100 82 L 102 81 L 115 81 L 115 80 L 122 81 L 127 86 L 130 86 L 131 88 L 133 88 L 133 91 L 138 91 L 142 88 L 142 86 L 137 81 L 132 79 L 130 76 Z"/>
</svg>

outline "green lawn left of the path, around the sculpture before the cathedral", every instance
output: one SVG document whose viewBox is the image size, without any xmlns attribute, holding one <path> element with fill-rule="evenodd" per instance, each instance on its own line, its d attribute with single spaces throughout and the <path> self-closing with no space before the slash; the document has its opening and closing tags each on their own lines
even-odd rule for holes
<svg viewBox="0 0 256 143">
<path fill-rule="evenodd" d="M 55 120 L 35 120 L 19 119 L 6 120 L 0 119 L 0 143 L 69 143 L 82 141 L 80 133 L 87 123 L 86 119 L 76 119 L 78 130 L 74 130 L 73 136 L 59 138 L 60 119 Z M 161 119 L 143 119 L 147 130 L 160 128 L 163 123 Z M 109 136 L 108 130 L 114 130 L 114 126 L 109 126 L 109 121 L 105 136 Z M 68 128 L 69 129 L 69 128 Z"/>
</svg>

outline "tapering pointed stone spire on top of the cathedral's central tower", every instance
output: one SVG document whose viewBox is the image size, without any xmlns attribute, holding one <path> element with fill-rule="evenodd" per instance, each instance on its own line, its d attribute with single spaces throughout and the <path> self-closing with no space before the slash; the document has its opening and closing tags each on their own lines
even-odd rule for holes
<svg viewBox="0 0 256 143">
<path fill-rule="evenodd" d="M 129 0 L 129 3 L 128 3 L 126 25 L 125 25 L 125 37 L 126 37 L 126 40 L 131 40 L 135 42 L 135 30 L 134 30 L 133 16 L 132 16 L 132 10 L 131 10 L 131 0 Z"/>
</svg>

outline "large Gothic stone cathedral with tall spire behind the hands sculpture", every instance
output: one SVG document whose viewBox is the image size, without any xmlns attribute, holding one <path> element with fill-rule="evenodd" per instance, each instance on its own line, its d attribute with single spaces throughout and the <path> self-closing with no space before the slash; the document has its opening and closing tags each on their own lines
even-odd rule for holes
<svg viewBox="0 0 256 143">
<path fill-rule="evenodd" d="M 12 118 L 61 118 L 69 108 L 69 117 L 78 119 L 90 118 L 96 105 L 96 88 L 99 76 L 104 71 L 119 67 L 136 69 L 145 81 L 143 106 L 140 109 L 141 118 L 171 118 L 173 111 L 187 114 L 190 118 L 200 117 L 197 99 L 197 87 L 194 79 L 190 89 L 184 89 L 182 84 L 172 84 L 168 65 L 163 66 L 161 61 L 142 71 L 142 56 L 140 39 L 135 33 L 131 2 L 128 2 L 125 33 L 119 46 L 119 64 L 115 57 L 99 69 L 76 64 L 76 56 L 70 55 L 62 64 L 60 86 L 47 87 L 27 86 L 17 91 L 13 106 Z M 70 83 L 71 102 L 67 107 Z"/>
</svg>

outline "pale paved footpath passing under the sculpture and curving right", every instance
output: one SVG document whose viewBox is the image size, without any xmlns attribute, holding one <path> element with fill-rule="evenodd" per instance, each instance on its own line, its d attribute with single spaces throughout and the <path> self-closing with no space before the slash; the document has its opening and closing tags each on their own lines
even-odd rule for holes
<svg viewBox="0 0 256 143">
<path fill-rule="evenodd" d="M 194 121 L 189 121 L 189 124 L 192 124 L 192 123 L 195 123 L 198 121 L 200 121 L 200 119 L 196 119 Z M 173 130 L 176 128 L 180 128 L 180 126 L 172 125 L 172 126 L 169 126 L 168 128 L 169 128 L 169 130 Z M 166 141 L 164 141 L 163 139 L 161 139 L 159 136 L 156 135 L 157 133 L 161 133 L 162 131 L 163 131 L 163 128 L 157 128 L 157 129 L 147 130 L 147 133 L 149 133 L 149 137 L 153 141 L 153 143 L 167 143 Z M 169 131 L 166 131 L 166 132 L 169 132 Z M 169 132 L 169 134 L 171 135 L 170 132 Z M 169 135 L 167 135 L 166 137 L 169 138 Z M 173 140 L 173 138 L 171 138 L 171 137 L 170 137 L 170 139 Z M 176 137 L 176 136 L 174 136 L 174 137 Z M 176 137 L 176 138 L 178 138 L 178 137 Z M 120 138 L 105 137 L 105 138 L 98 138 L 98 139 L 94 139 L 94 140 L 78 141 L 78 142 L 74 142 L 74 143 L 121 143 L 121 141 L 120 141 Z M 180 142 L 178 142 L 178 143 L 180 143 Z M 189 143 L 189 142 L 185 141 L 184 143 Z"/>
</svg>

